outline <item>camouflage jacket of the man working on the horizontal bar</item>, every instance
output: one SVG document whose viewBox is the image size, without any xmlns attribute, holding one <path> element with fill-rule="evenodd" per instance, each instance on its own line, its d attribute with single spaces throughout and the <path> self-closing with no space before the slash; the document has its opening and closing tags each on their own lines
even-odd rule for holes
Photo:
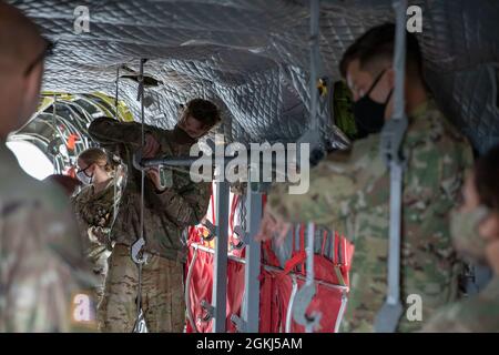
<svg viewBox="0 0 499 355">
<path fill-rule="evenodd" d="M 160 156 L 189 155 L 196 143 L 179 129 L 169 131 L 146 125 L 145 132 L 161 144 Z M 118 154 L 128 166 L 129 176 L 112 239 L 131 245 L 140 237 L 141 225 L 141 172 L 133 168 L 133 153 L 141 148 L 141 124 L 96 119 L 89 126 L 89 134 L 101 146 Z M 156 193 L 152 181 L 145 178 L 144 239 L 145 251 L 184 262 L 186 247 L 182 231 L 197 224 L 206 214 L 211 183 L 194 183 L 189 169 L 179 170 L 172 172 L 172 187 L 163 193 Z"/>
</svg>

